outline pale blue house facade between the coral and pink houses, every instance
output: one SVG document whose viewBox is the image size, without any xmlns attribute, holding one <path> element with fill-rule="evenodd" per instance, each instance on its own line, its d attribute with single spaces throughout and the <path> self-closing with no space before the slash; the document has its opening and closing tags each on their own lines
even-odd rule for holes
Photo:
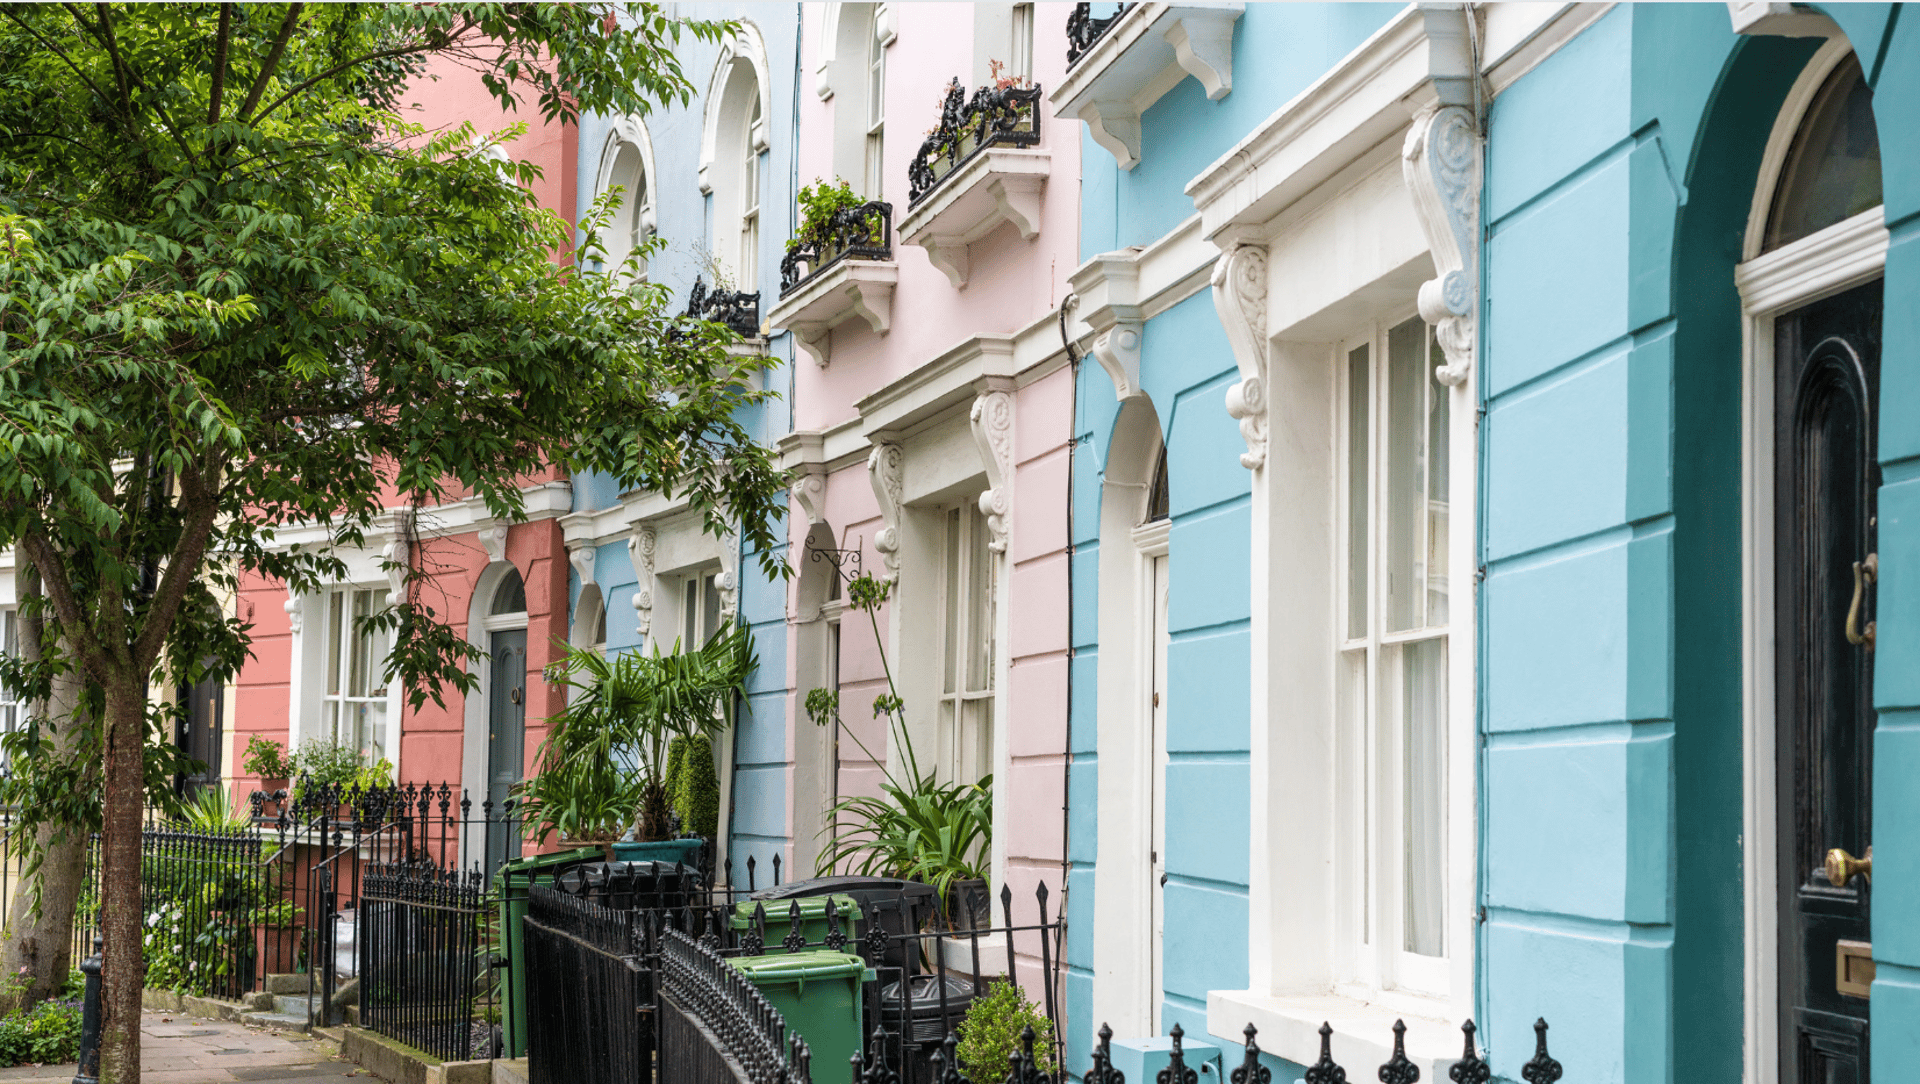
<svg viewBox="0 0 1920 1084">
<path fill-rule="evenodd" d="M 682 69 L 703 88 L 689 104 L 582 119 L 578 205 L 622 186 L 630 198 L 607 230 L 609 259 L 624 257 L 636 238 L 664 238 L 664 251 L 645 265 L 647 280 L 672 292 L 676 311 L 699 284 L 705 315 L 743 336 L 737 349 L 774 359 L 764 386 L 781 399 L 743 409 L 743 422 L 772 445 L 791 430 L 793 342 L 768 334 L 762 320 L 780 295 L 780 257 L 793 228 L 795 6 L 680 4 L 676 15 L 735 21 L 739 31 L 718 44 L 682 40 Z M 774 856 L 791 858 L 785 583 L 768 579 L 739 539 L 703 533 L 678 501 L 620 493 L 607 478 L 574 480 L 574 512 L 563 528 L 576 645 L 672 650 L 722 625 L 753 629 L 753 695 L 716 742 L 720 860 L 739 884 L 753 860 L 755 881 L 768 884 Z M 778 556 L 785 560 L 785 547 Z"/>
</svg>

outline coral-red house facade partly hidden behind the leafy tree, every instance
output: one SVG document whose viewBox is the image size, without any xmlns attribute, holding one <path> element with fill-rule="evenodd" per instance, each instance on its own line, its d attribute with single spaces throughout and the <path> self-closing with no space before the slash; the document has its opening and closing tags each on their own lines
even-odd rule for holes
<svg viewBox="0 0 1920 1084">
<path fill-rule="evenodd" d="M 470 123 L 482 136 L 524 123 L 526 134 L 501 150 L 538 165 L 540 203 L 574 221 L 578 129 L 547 123 L 530 106 L 503 113 L 474 73 L 449 61 L 430 63 L 401 109 L 430 130 Z M 540 672 L 566 641 L 559 518 L 568 491 L 559 474 L 528 480 L 526 522 L 516 524 L 493 520 L 478 497 L 411 510 L 396 497 L 365 547 L 340 553 L 348 564 L 342 583 L 298 597 L 276 581 L 246 583 L 236 606 L 253 625 L 253 658 L 234 677 L 221 775 L 242 796 L 259 785 L 240 773 L 246 742 L 259 735 L 290 750 L 309 741 L 357 746 L 369 760 L 390 760 L 401 783 L 447 783 L 465 789 L 476 808 L 490 796 L 499 800 L 505 783 L 532 766 L 541 719 L 564 704 L 563 689 Z M 319 539 L 303 530 L 282 530 L 278 539 L 298 545 L 307 533 Z M 426 572 L 413 587 L 415 601 L 492 658 L 474 695 L 447 691 L 445 706 L 428 700 L 413 710 L 401 689 L 382 679 L 390 645 L 380 635 L 355 635 L 353 618 L 401 589 L 392 562 Z"/>
</svg>

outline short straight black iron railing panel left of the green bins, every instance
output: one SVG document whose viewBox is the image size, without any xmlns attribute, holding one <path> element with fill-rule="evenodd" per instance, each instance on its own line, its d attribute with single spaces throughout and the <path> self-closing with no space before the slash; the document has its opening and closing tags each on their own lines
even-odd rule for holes
<svg viewBox="0 0 1920 1084">
<path fill-rule="evenodd" d="M 361 1025 L 445 1061 L 497 1057 L 492 902 L 478 871 L 369 867 L 357 938 Z"/>
</svg>

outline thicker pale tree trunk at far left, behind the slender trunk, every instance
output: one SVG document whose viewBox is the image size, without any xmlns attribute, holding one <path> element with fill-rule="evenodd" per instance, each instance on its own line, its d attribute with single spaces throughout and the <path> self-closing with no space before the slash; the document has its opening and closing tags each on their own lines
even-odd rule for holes
<svg viewBox="0 0 1920 1084">
<path fill-rule="evenodd" d="M 40 570 L 31 562 L 21 570 L 21 599 L 40 593 Z M 40 614 L 21 614 L 19 654 L 23 662 L 38 662 L 48 633 L 58 625 L 42 622 Z M 56 756 L 71 756 L 83 727 L 81 693 L 84 675 L 61 673 L 54 681 L 50 700 L 33 704 L 33 718 L 54 721 L 46 739 Z M 44 731 L 42 731 L 44 733 Z M 56 837 L 63 837 L 56 842 Z M 36 1005 L 52 998 L 67 982 L 73 967 L 73 911 L 86 877 L 86 833 L 71 825 L 40 825 L 35 835 L 40 867 L 33 877 L 21 877 L 8 909 L 6 940 L 0 944 L 0 967 L 6 975 L 23 977 L 0 998 L 0 1011 Z"/>
</svg>

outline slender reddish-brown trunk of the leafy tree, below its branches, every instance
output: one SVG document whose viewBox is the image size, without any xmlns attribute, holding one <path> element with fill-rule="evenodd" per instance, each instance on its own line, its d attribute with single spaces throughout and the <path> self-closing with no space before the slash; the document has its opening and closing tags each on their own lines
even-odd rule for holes
<svg viewBox="0 0 1920 1084">
<path fill-rule="evenodd" d="M 106 967 L 100 973 L 100 1080 L 140 1080 L 140 804 L 146 792 L 146 681 L 113 673 L 106 687 L 108 762 L 100 825 L 100 929 Z"/>
</svg>

